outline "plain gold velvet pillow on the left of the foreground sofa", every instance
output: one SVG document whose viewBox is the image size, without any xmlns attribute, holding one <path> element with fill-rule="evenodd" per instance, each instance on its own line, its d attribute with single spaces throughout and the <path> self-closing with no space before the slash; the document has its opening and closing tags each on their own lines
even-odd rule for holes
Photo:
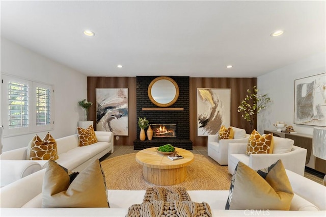
<svg viewBox="0 0 326 217">
<path fill-rule="evenodd" d="M 99 160 L 72 172 L 49 160 L 42 186 L 42 208 L 109 207 Z"/>
</svg>

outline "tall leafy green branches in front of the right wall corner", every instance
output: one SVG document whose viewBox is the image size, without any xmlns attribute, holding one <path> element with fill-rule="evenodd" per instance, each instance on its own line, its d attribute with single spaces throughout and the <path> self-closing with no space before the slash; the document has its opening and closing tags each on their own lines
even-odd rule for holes
<svg viewBox="0 0 326 217">
<path fill-rule="evenodd" d="M 271 99 L 270 97 L 267 97 L 267 94 L 258 95 L 259 89 L 257 89 L 256 86 L 254 86 L 253 89 L 253 93 L 251 93 L 251 90 L 247 90 L 249 95 L 241 100 L 241 103 L 238 106 L 238 112 L 243 112 L 242 118 L 249 122 L 251 130 L 254 125 L 253 115 L 255 115 L 255 113 L 259 114 L 259 112 L 265 109 L 268 103 L 271 102 Z M 251 101 L 253 101 L 253 103 L 251 103 Z"/>
</svg>

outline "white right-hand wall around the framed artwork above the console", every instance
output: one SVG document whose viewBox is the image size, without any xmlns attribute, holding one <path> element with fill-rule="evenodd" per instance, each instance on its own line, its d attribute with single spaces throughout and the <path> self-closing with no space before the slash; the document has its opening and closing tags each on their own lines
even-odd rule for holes
<svg viewBox="0 0 326 217">
<path fill-rule="evenodd" d="M 276 130 L 273 123 L 284 121 L 287 125 L 292 125 L 295 131 L 312 135 L 314 126 L 293 124 L 294 80 L 325 73 L 325 58 L 325 52 L 320 52 L 258 77 L 259 93 L 267 93 L 273 101 L 265 111 L 258 114 L 259 133 L 263 133 L 264 129 Z"/>
</svg>

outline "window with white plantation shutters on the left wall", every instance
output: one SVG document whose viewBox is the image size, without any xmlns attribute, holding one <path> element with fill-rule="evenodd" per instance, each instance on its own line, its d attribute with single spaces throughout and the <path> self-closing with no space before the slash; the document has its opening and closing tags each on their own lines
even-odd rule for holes
<svg viewBox="0 0 326 217">
<path fill-rule="evenodd" d="M 52 86 L 9 75 L 2 78 L 4 136 L 52 130 Z"/>
</svg>

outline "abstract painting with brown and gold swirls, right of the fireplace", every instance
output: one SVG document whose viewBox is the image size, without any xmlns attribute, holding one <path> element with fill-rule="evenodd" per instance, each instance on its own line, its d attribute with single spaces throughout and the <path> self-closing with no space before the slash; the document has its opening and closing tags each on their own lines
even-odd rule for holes
<svg viewBox="0 0 326 217">
<path fill-rule="evenodd" d="M 216 134 L 222 125 L 230 126 L 231 90 L 197 89 L 197 136 Z"/>
</svg>

